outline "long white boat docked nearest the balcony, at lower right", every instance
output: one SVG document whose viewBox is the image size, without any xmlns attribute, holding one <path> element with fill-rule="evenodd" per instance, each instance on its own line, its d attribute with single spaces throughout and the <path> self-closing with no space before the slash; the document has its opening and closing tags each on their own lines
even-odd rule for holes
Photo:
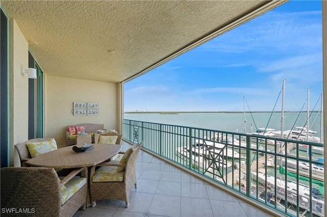
<svg viewBox="0 0 327 217">
<path fill-rule="evenodd" d="M 319 189 L 312 188 L 310 192 L 310 186 L 296 183 L 292 180 L 281 180 L 273 176 L 267 175 L 264 173 L 251 172 L 251 178 L 253 180 L 258 180 L 258 183 L 267 186 L 267 191 L 276 198 L 276 201 L 285 201 L 285 191 L 287 192 L 287 202 L 297 204 L 297 195 L 299 197 L 299 206 L 302 209 L 310 209 L 310 193 L 312 194 L 312 212 L 319 216 L 324 216 L 324 196 L 320 193 Z M 276 194 L 275 190 L 275 179 L 276 179 Z M 287 185 L 286 185 L 287 183 Z M 286 188 L 287 186 L 287 188 Z"/>
</svg>

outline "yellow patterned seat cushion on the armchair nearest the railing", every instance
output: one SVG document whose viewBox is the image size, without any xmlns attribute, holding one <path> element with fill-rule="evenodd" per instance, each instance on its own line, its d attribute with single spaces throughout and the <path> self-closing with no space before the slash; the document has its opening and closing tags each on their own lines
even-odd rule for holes
<svg viewBox="0 0 327 217">
<path fill-rule="evenodd" d="M 94 176 L 92 177 L 93 182 L 108 182 L 108 181 L 123 181 L 124 171 L 117 172 L 117 167 L 100 167 Z"/>
</svg>

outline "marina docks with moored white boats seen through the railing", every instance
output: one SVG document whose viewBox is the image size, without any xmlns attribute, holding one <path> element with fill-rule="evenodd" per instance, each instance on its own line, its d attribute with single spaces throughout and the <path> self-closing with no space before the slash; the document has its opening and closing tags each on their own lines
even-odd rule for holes
<svg viewBox="0 0 327 217">
<path fill-rule="evenodd" d="M 207 141 L 207 140 L 197 140 L 195 144 L 192 145 L 192 155 L 193 155 L 193 163 L 196 165 L 209 165 L 206 162 L 212 161 L 209 157 L 210 154 L 208 152 L 212 151 L 210 149 L 212 147 L 218 148 L 219 150 L 231 150 L 227 144 L 236 144 L 238 147 L 239 144 L 241 147 L 244 147 L 244 143 L 240 143 L 237 141 L 232 142 L 227 137 L 219 137 L 219 134 L 215 136 L 211 136 L 211 139 L 220 138 L 216 141 L 224 141 L 226 144 L 217 143 L 214 141 Z M 274 143 L 276 143 L 274 141 Z M 217 145 L 218 144 L 218 145 Z M 251 147 L 255 147 L 258 144 L 251 144 Z M 260 144 L 262 145 L 262 144 Z M 270 145 L 271 146 L 271 145 Z M 273 147 L 273 146 L 271 146 Z M 271 148 L 270 147 L 270 148 Z M 295 156 L 291 154 L 292 151 L 296 150 L 296 144 L 288 144 L 286 152 L 288 156 Z M 263 148 L 263 147 L 262 147 Z M 263 148 L 262 150 L 265 150 Z M 181 151 L 184 151 L 181 154 Z M 306 216 L 306 213 L 310 211 L 310 194 L 313 195 L 311 210 L 312 213 L 316 216 L 324 216 L 324 193 L 323 193 L 323 172 L 324 168 L 320 165 L 316 164 L 309 164 L 307 162 L 303 162 L 301 160 L 295 161 L 292 159 L 280 158 L 274 159 L 273 154 L 267 153 L 259 153 L 258 151 L 251 152 L 250 158 L 253 159 L 251 162 L 251 170 L 249 171 L 251 177 L 251 185 L 246 186 L 246 174 L 247 174 L 247 166 L 244 161 L 244 156 L 241 153 L 238 153 L 235 150 L 239 150 L 238 148 L 233 149 L 234 152 L 229 152 L 229 154 L 235 154 L 234 158 L 230 157 L 223 157 L 215 152 L 216 156 L 218 157 L 216 161 L 218 162 L 219 166 L 216 167 L 202 167 L 199 168 L 204 173 L 208 174 L 217 174 L 217 170 L 225 171 L 225 176 L 219 177 L 214 176 L 217 180 L 222 182 L 226 182 L 227 185 L 230 186 L 239 186 L 241 185 L 242 191 L 246 192 L 246 188 L 249 187 L 251 189 L 250 194 L 252 196 L 258 196 L 261 200 L 269 202 L 271 205 L 276 205 L 279 208 L 284 209 L 287 203 L 287 209 L 291 213 L 296 213 L 296 209 L 299 209 L 298 212 L 301 216 Z M 269 150 L 267 150 L 269 151 Z M 190 157 L 188 153 L 190 152 L 189 146 L 179 147 L 176 149 L 176 154 L 179 156 Z M 265 152 L 265 151 L 263 151 Z M 228 152 L 226 152 L 228 153 Z M 228 155 L 228 154 L 227 154 Z M 242 156 L 242 157 L 240 157 Z M 202 157 L 202 158 L 201 158 Z M 303 157 L 306 157 L 305 155 Z M 313 160 L 319 160 L 321 158 L 312 157 Z M 188 158 L 190 159 L 190 158 Z M 279 164 L 275 165 L 275 162 L 281 162 L 281 166 L 287 168 L 287 176 L 279 171 Z M 200 167 L 200 166 L 199 166 Z M 310 168 L 311 167 L 311 168 Z M 230 169 L 228 169 L 230 168 Z M 232 172 L 231 172 L 232 171 Z M 309 186 L 309 178 L 313 180 L 312 188 Z M 267 174 L 267 175 L 266 175 Z M 277 175 L 275 177 L 275 174 Z M 299 175 L 299 183 L 297 183 L 297 174 Z M 257 192 L 258 189 L 258 192 Z M 312 189 L 310 191 L 310 189 Z M 276 192 L 275 192 L 276 191 Z M 311 192 L 311 193 L 310 193 Z M 267 197 L 267 198 L 266 198 Z M 297 197 L 299 199 L 297 199 Z M 297 201 L 299 201 L 299 206 L 297 206 Z"/>
</svg>

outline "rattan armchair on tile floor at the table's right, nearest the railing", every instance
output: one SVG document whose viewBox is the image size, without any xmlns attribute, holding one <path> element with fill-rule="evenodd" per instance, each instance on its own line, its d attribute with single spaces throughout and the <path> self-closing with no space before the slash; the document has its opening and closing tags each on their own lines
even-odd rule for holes
<svg viewBox="0 0 327 217">
<path fill-rule="evenodd" d="M 129 205 L 129 195 L 133 185 L 137 187 L 136 183 L 136 160 L 138 152 L 142 147 L 142 143 L 135 144 L 132 151 L 127 156 L 126 164 L 121 164 L 118 160 L 103 162 L 95 167 L 91 167 L 90 170 L 90 197 L 92 207 L 96 205 L 97 200 L 102 199 L 114 199 L 123 200 L 126 203 L 126 207 Z M 123 180 L 122 181 L 106 181 L 106 182 L 94 182 L 92 177 L 96 173 L 96 169 L 102 166 L 119 167 L 125 166 Z"/>
</svg>

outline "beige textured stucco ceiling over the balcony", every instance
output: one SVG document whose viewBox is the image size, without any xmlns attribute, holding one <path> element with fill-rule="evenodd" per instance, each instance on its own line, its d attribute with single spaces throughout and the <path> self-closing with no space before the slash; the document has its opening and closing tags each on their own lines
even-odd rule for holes
<svg viewBox="0 0 327 217">
<path fill-rule="evenodd" d="M 271 3 L 2 1 L 1 4 L 8 16 L 16 20 L 44 73 L 118 83 Z"/>
</svg>

